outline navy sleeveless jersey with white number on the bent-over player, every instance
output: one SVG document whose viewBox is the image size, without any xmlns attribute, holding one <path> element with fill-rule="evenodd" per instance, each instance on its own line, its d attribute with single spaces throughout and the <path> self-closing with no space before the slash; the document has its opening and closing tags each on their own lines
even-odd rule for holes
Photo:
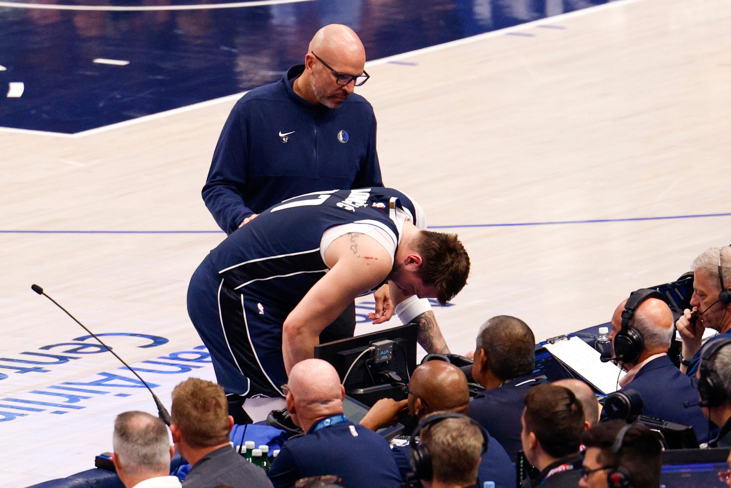
<svg viewBox="0 0 731 488">
<path fill-rule="evenodd" d="M 392 188 L 342 189 L 289 198 L 235 230 L 209 259 L 232 290 L 266 293 L 269 300 L 297 304 L 327 272 L 320 241 L 336 225 L 376 225 L 401 241 L 396 209 L 425 228 L 417 203 Z"/>
</svg>

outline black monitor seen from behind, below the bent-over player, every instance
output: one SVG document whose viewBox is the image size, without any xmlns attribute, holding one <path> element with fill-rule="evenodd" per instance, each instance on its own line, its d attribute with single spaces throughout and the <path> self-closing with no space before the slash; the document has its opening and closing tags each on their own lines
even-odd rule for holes
<svg viewBox="0 0 731 488">
<path fill-rule="evenodd" d="M 417 324 L 409 323 L 406 326 L 327 342 L 315 346 L 314 357 L 323 359 L 335 367 L 340 380 L 345 380 L 344 386 L 347 392 L 390 383 L 409 383 L 409 378 L 416 368 L 417 333 Z M 384 339 L 395 342 L 392 359 L 381 364 L 373 364 L 371 354 L 360 356 L 372 342 Z M 396 376 L 389 376 L 385 372 L 393 372 Z M 399 380 L 396 380 L 396 377 Z"/>
</svg>

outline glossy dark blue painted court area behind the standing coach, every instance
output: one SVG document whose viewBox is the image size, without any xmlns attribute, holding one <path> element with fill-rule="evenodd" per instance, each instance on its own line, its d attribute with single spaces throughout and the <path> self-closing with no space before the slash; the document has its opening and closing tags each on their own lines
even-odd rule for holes
<svg viewBox="0 0 731 488">
<path fill-rule="evenodd" d="M 351 26 L 380 59 L 607 1 L 1 1 L 0 126 L 74 134 L 246 91 L 301 62 L 328 23 Z M 10 83 L 23 83 L 20 97 L 6 97 Z"/>
</svg>

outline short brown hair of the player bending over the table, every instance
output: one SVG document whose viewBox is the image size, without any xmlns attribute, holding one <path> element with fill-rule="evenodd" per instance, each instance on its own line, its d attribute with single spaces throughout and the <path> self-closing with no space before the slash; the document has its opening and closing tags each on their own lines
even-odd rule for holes
<svg viewBox="0 0 731 488">
<path fill-rule="evenodd" d="M 457 234 L 422 230 L 415 247 L 423 263 L 417 271 L 425 285 L 434 286 L 436 299 L 447 304 L 464 288 L 469 275 L 469 256 Z"/>
</svg>

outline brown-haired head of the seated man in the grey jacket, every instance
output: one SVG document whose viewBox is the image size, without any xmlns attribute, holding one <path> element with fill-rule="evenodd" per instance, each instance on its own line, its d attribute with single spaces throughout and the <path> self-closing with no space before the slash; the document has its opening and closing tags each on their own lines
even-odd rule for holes
<svg viewBox="0 0 731 488">
<path fill-rule="evenodd" d="M 191 447 L 229 441 L 228 402 L 224 388 L 211 381 L 188 378 L 173 390 L 172 423 Z"/>
</svg>

